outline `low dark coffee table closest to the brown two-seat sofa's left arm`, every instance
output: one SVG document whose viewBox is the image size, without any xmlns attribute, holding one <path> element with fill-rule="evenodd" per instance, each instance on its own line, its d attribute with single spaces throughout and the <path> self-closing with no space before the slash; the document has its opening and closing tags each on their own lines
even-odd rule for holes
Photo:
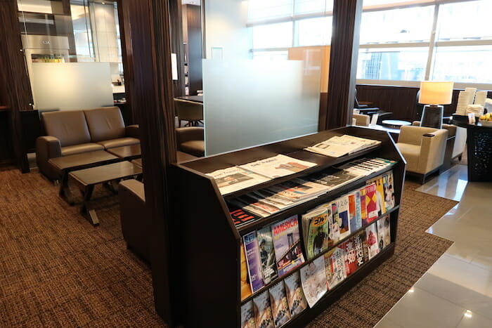
<svg viewBox="0 0 492 328">
<path fill-rule="evenodd" d="M 55 169 L 58 176 L 61 178 L 60 197 L 65 199 L 65 202 L 68 204 L 73 205 L 72 192 L 70 192 L 70 189 L 68 188 L 68 173 L 70 173 L 70 171 L 88 169 L 93 166 L 105 165 L 118 161 L 121 161 L 119 157 L 111 155 L 104 150 L 97 150 L 95 152 L 84 152 L 82 154 L 55 157 L 49 159 L 48 163 Z"/>
</svg>

